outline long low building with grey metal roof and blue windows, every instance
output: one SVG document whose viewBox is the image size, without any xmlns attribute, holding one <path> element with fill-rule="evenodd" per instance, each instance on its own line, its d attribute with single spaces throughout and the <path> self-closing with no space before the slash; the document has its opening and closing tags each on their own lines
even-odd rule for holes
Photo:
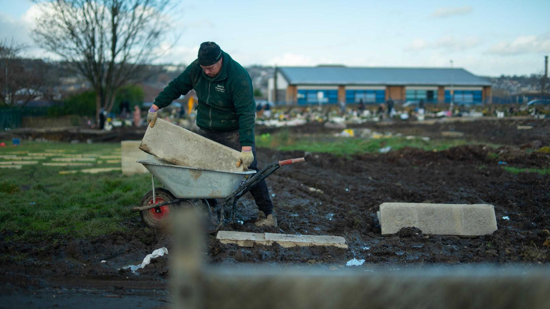
<svg viewBox="0 0 550 309">
<path fill-rule="evenodd" d="M 275 89 L 277 91 L 275 91 Z M 281 104 L 491 103 L 491 83 L 462 68 L 280 67 L 268 82 L 268 100 Z"/>
</svg>

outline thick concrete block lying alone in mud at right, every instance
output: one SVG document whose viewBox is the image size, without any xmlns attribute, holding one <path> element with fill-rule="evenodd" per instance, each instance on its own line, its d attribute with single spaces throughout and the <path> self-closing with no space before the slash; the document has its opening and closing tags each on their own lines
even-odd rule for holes
<svg viewBox="0 0 550 309">
<path fill-rule="evenodd" d="M 382 235 L 416 227 L 424 234 L 479 236 L 497 230 L 494 206 L 487 204 L 382 203 Z"/>
</svg>

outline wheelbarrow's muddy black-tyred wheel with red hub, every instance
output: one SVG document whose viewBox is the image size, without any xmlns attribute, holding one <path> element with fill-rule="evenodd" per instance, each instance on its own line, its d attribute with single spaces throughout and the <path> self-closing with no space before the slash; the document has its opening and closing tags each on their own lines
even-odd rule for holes
<svg viewBox="0 0 550 309">
<path fill-rule="evenodd" d="M 157 187 L 155 188 L 155 204 L 174 200 L 175 197 L 170 191 Z M 153 205 L 153 190 L 147 192 L 141 198 L 140 206 Z M 164 205 L 161 207 L 149 208 L 140 212 L 141 221 L 147 227 L 153 229 L 165 229 L 168 223 L 174 217 L 174 204 Z"/>
</svg>

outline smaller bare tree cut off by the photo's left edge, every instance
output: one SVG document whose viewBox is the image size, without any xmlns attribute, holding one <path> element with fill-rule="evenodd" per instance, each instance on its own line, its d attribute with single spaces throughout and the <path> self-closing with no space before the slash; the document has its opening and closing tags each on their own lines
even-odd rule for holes
<svg viewBox="0 0 550 309">
<path fill-rule="evenodd" d="M 26 45 L 12 40 L 0 40 L 0 103 L 24 107 L 37 97 L 43 97 L 48 66 L 41 59 L 24 59 Z"/>
</svg>

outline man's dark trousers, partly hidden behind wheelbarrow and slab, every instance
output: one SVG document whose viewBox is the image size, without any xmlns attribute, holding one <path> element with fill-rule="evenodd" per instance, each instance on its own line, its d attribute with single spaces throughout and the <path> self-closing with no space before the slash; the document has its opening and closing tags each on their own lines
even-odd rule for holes
<svg viewBox="0 0 550 309">
<path fill-rule="evenodd" d="M 242 147 L 240 145 L 240 134 L 239 130 L 233 131 L 223 131 L 223 132 L 212 132 L 206 130 L 200 130 L 199 135 L 206 137 L 209 140 L 218 142 L 219 144 L 225 145 L 234 150 L 241 151 Z M 252 145 L 252 153 L 254 154 L 254 161 L 249 165 L 249 169 L 253 169 L 256 172 L 259 172 L 258 169 L 258 159 L 256 158 L 256 143 Z M 235 162 L 237 164 L 237 162 Z M 256 186 L 250 190 L 250 194 L 254 197 L 258 210 L 263 211 L 266 216 L 273 212 L 273 203 L 271 202 L 270 191 L 267 189 L 267 184 L 265 180 L 260 181 Z M 216 200 L 210 199 L 207 200 L 211 206 L 216 205 Z"/>
</svg>

